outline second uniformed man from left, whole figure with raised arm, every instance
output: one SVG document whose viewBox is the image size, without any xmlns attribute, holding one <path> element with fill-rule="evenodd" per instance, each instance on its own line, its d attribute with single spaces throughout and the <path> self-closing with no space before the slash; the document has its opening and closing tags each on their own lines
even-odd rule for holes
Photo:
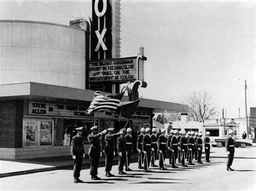
<svg viewBox="0 0 256 191">
<path fill-rule="evenodd" d="M 98 126 L 93 126 L 91 128 L 92 133 L 88 135 L 88 140 L 90 143 L 89 147 L 89 156 L 90 156 L 90 163 L 91 163 L 91 179 L 92 180 L 100 180 L 98 175 L 98 165 L 99 165 L 99 158 L 102 156 L 102 149 L 100 147 L 100 140 L 99 137 L 102 136 L 107 132 L 107 130 L 103 130 L 102 132 L 98 133 Z"/>
</svg>

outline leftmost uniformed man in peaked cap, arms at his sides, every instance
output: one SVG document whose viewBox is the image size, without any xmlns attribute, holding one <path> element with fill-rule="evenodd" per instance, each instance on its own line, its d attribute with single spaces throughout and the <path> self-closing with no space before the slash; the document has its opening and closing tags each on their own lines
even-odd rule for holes
<svg viewBox="0 0 256 191">
<path fill-rule="evenodd" d="M 80 171 L 82 168 L 82 164 L 83 164 L 83 158 L 85 157 L 85 153 L 84 153 L 84 140 L 82 137 L 82 133 L 83 133 L 83 129 L 84 127 L 81 126 L 80 128 L 76 128 L 77 130 L 77 135 L 74 136 L 72 138 L 71 141 L 71 150 L 70 150 L 70 154 L 72 155 L 72 158 L 74 160 L 73 162 L 73 169 L 74 169 L 74 182 L 78 183 L 78 182 L 83 182 L 83 180 L 79 179 L 80 176 Z"/>
</svg>

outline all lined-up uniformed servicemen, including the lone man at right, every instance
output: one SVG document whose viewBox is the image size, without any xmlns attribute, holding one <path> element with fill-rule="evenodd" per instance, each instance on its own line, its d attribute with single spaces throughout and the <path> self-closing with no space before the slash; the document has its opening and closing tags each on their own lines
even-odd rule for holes
<svg viewBox="0 0 256 191">
<path fill-rule="evenodd" d="M 72 138 L 71 142 L 71 155 L 74 160 L 74 182 L 83 182 L 79 179 L 80 170 L 82 167 L 82 161 L 85 157 L 84 145 L 82 138 L 83 127 L 77 128 L 77 135 Z M 98 133 L 98 126 L 91 128 L 92 133 L 87 137 L 90 143 L 89 157 L 90 157 L 90 175 L 92 180 L 100 180 L 98 174 L 99 159 L 102 156 L 102 147 L 100 146 L 100 137 L 105 139 L 105 172 L 107 177 L 114 176 L 111 174 L 113 156 L 115 155 L 114 148 L 117 147 L 118 154 L 118 174 L 126 174 L 127 171 L 132 171 L 129 168 L 131 155 L 133 152 L 132 143 L 132 129 L 127 128 L 119 130 L 118 133 L 113 133 L 114 128 L 109 128 Z M 229 132 L 230 137 L 227 139 L 227 170 L 232 171 L 230 167 L 233 161 L 234 146 L 232 132 Z M 117 141 L 115 143 L 115 137 Z M 178 168 L 176 166 L 177 160 L 181 163 L 181 166 L 187 167 L 188 165 L 194 165 L 193 161 L 196 160 L 198 164 L 203 164 L 201 161 L 201 155 L 203 151 L 203 145 L 205 148 L 205 162 L 210 161 L 210 132 L 206 132 L 204 140 L 202 139 L 202 133 L 194 131 L 177 131 L 171 130 L 166 136 L 166 130 L 163 128 L 160 133 L 157 134 L 156 128 L 142 128 L 140 129 L 140 135 L 137 138 L 137 151 L 138 151 L 138 168 L 144 169 L 144 172 L 151 172 L 149 166 L 158 167 L 156 165 L 156 159 L 159 159 L 159 168 L 165 170 L 166 154 L 169 157 L 169 164 L 172 168 Z M 233 144 L 234 145 L 234 144 Z M 187 161 L 188 165 L 186 165 Z M 126 172 L 124 172 L 124 169 Z"/>
</svg>

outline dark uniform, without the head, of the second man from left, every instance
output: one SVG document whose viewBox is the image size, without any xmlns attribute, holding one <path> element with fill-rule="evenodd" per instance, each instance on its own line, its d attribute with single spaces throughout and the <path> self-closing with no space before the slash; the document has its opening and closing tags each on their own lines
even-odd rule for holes
<svg viewBox="0 0 256 191">
<path fill-rule="evenodd" d="M 89 147 L 89 156 L 90 156 L 90 163 L 91 163 L 91 171 L 90 174 L 97 175 L 98 174 L 98 165 L 99 165 L 99 158 L 100 158 L 100 140 L 99 137 L 101 134 L 94 135 L 93 133 L 88 135 L 88 140 L 90 143 Z"/>
</svg>

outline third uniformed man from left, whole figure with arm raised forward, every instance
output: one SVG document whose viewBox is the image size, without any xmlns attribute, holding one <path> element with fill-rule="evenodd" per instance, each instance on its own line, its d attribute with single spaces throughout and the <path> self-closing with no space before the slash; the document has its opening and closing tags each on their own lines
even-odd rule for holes
<svg viewBox="0 0 256 191">
<path fill-rule="evenodd" d="M 105 171 L 106 171 L 106 176 L 111 177 L 114 176 L 113 174 L 110 173 L 113 165 L 113 157 L 114 157 L 114 137 L 119 135 L 118 133 L 113 133 L 114 128 L 109 128 L 107 129 L 109 133 L 105 135 L 105 153 L 106 153 L 106 160 L 105 160 Z"/>
</svg>

